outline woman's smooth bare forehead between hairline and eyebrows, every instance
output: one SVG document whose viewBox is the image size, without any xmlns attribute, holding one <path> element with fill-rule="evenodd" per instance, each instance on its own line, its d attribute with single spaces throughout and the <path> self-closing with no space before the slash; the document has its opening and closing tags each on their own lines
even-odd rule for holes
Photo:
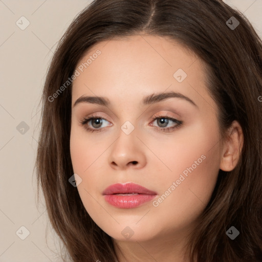
<svg viewBox="0 0 262 262">
<path fill-rule="evenodd" d="M 76 70 L 80 74 L 73 82 L 72 103 L 82 95 L 131 99 L 165 91 L 194 93 L 199 102 L 209 99 L 202 60 L 166 37 L 135 35 L 99 42 L 85 52 Z"/>
</svg>

